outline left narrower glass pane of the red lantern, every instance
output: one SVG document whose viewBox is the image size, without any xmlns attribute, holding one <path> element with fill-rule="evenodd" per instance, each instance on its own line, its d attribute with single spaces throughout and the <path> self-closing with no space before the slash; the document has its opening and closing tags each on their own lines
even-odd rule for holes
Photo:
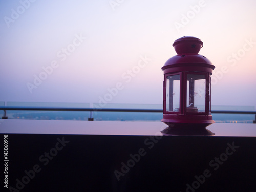
<svg viewBox="0 0 256 192">
<path fill-rule="evenodd" d="M 166 77 L 166 111 L 180 111 L 180 75 Z"/>
</svg>

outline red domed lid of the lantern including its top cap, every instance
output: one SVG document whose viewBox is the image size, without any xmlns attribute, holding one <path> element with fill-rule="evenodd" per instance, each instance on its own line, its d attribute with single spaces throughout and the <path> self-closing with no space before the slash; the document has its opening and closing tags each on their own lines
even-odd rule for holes
<svg viewBox="0 0 256 192">
<path fill-rule="evenodd" d="M 174 49 L 177 55 L 169 58 L 162 70 L 178 66 L 202 66 L 206 68 L 215 68 L 214 65 L 205 56 L 198 54 L 203 47 L 203 42 L 193 36 L 184 36 L 174 41 Z"/>
</svg>

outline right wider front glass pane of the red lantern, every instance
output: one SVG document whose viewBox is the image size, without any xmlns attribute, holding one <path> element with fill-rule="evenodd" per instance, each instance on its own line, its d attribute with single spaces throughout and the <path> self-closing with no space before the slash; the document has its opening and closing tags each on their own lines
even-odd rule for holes
<svg viewBox="0 0 256 192">
<path fill-rule="evenodd" d="M 205 75 L 187 74 L 188 113 L 205 112 Z"/>
</svg>

